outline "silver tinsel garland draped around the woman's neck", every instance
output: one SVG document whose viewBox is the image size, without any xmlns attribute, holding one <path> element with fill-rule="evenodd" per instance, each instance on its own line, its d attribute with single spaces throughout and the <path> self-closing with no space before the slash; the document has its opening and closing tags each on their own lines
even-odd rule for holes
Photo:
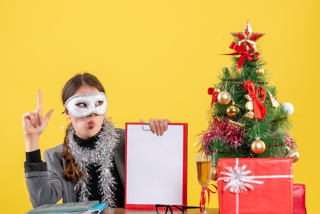
<svg viewBox="0 0 320 214">
<path fill-rule="evenodd" d="M 74 139 L 76 133 L 72 124 L 68 125 L 67 129 L 69 151 L 75 158 L 79 171 L 84 174 L 84 177 L 80 178 L 75 186 L 75 191 L 79 194 L 79 201 L 88 201 L 88 196 L 91 195 L 88 188 L 90 177 L 87 167 L 89 164 L 94 164 L 100 166 L 98 169 L 98 172 L 100 172 L 98 187 L 102 196 L 100 203 L 105 203 L 107 207 L 116 207 L 113 192 L 116 181 L 111 175 L 111 169 L 113 168 L 112 160 L 115 155 L 115 148 L 119 143 L 119 131 L 108 118 L 105 118 L 102 130 L 97 135 L 98 141 L 92 149 L 78 145 Z"/>
</svg>

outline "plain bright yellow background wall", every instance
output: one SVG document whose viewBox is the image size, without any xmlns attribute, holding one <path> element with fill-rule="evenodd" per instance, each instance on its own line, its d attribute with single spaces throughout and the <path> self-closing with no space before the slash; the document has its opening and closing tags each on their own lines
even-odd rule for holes
<svg viewBox="0 0 320 214">
<path fill-rule="evenodd" d="M 41 151 L 61 143 L 68 122 L 61 89 L 82 71 L 103 82 L 107 114 L 120 127 L 149 117 L 189 124 L 188 205 L 198 205 L 193 144 L 207 129 L 207 89 L 221 67 L 231 65 L 229 56 L 219 55 L 233 52 L 230 33 L 249 19 L 254 32 L 265 33 L 257 45 L 277 98 L 294 105 L 290 134 L 301 154 L 294 181 L 306 184 L 308 213 L 319 213 L 319 9 L 316 0 L 1 1 L 2 212 L 32 208 L 21 115 L 36 108 L 40 89 L 44 111 L 55 110 Z M 217 206 L 211 196 L 210 207 Z"/>
</svg>

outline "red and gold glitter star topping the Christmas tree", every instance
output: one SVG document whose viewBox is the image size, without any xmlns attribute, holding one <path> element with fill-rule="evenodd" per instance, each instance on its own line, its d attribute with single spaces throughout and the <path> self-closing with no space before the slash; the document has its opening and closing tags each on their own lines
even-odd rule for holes
<svg viewBox="0 0 320 214">
<path fill-rule="evenodd" d="M 254 33 L 250 26 L 249 20 L 245 25 L 245 28 L 242 32 L 231 33 L 238 41 L 238 45 L 241 46 L 244 50 L 250 50 L 257 52 L 256 42 L 264 33 Z"/>
</svg>

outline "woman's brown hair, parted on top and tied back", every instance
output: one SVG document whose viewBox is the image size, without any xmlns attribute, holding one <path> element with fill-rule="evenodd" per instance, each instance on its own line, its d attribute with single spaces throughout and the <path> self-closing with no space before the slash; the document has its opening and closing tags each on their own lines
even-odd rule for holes
<svg viewBox="0 0 320 214">
<path fill-rule="evenodd" d="M 65 103 L 65 101 L 73 96 L 82 85 L 90 85 L 96 87 L 100 92 L 105 92 L 103 85 L 96 76 L 89 73 L 77 74 L 65 83 L 62 89 L 62 102 Z M 63 142 L 62 156 L 66 161 L 66 166 L 63 170 L 63 178 L 66 180 L 77 182 L 78 179 L 83 177 L 84 175 L 79 172 L 77 164 L 75 163 L 75 159 L 69 152 L 69 141 L 67 139 L 67 132 L 68 131 L 66 131 L 65 133 Z"/>
</svg>

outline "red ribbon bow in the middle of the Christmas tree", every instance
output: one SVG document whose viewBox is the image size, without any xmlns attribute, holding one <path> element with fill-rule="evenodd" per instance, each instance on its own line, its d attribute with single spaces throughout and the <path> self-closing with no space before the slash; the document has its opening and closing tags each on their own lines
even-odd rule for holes
<svg viewBox="0 0 320 214">
<path fill-rule="evenodd" d="M 245 88 L 246 90 L 248 90 L 249 96 L 250 98 L 252 98 L 254 102 L 255 117 L 258 118 L 259 120 L 263 120 L 263 118 L 267 114 L 267 109 L 262 104 L 265 100 L 265 89 L 259 86 L 255 90 L 255 83 L 249 80 L 245 81 Z M 259 91 L 260 91 L 260 94 L 259 94 Z M 261 97 L 260 100 L 258 96 Z"/>
</svg>

